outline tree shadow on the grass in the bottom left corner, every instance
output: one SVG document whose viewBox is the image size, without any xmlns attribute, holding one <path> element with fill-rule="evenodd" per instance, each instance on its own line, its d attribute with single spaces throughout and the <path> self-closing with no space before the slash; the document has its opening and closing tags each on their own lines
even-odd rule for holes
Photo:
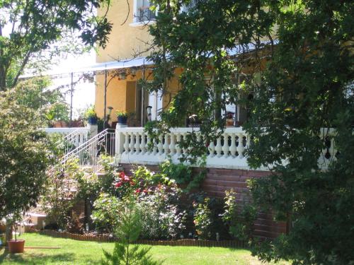
<svg viewBox="0 0 354 265">
<path fill-rule="evenodd" d="M 3 249 L 4 250 L 4 249 Z M 23 254 L 10 254 L 5 250 L 1 254 L 0 249 L 0 264 L 7 263 L 12 264 L 16 262 L 17 264 L 26 265 L 40 265 L 40 264 L 59 264 L 67 263 L 75 260 L 75 254 L 64 253 L 64 254 L 42 254 L 42 253 L 23 253 Z M 87 264 L 101 264 L 99 261 L 89 261 L 86 260 Z"/>
</svg>

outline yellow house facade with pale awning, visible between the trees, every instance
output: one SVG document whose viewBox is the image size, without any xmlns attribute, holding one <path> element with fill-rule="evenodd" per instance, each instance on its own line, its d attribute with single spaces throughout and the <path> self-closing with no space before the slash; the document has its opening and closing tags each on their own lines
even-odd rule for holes
<svg viewBox="0 0 354 265">
<path fill-rule="evenodd" d="M 126 111 L 130 114 L 128 125 L 142 126 L 146 107 L 152 107 L 152 119 L 156 119 L 171 100 L 173 91 L 178 90 L 178 81 L 172 81 L 171 93 L 164 96 L 149 94 L 139 84 L 142 78 L 152 78 L 151 65 L 145 59 L 149 55 L 145 42 L 152 39 L 147 24 L 155 13 L 149 9 L 147 0 L 128 0 L 128 3 L 129 6 L 126 1 L 114 1 L 107 14 L 113 30 L 107 47 L 99 49 L 96 57 L 96 62 L 107 70 L 96 74 L 95 108 L 98 117 L 103 118 L 108 107 L 113 107 L 110 124 L 115 124 L 116 111 Z M 103 15 L 101 12 L 98 14 Z"/>
</svg>

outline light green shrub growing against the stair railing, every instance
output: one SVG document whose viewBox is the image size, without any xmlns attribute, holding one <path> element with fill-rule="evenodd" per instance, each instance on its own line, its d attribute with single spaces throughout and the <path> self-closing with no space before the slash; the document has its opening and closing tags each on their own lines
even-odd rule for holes
<svg viewBox="0 0 354 265">
<path fill-rule="evenodd" d="M 48 173 L 45 194 L 42 197 L 42 207 L 47 213 L 47 223 L 54 223 L 62 230 L 72 220 L 72 207 L 76 202 L 76 179 L 84 173 L 79 169 L 76 159 L 67 160 L 64 164 L 55 165 Z"/>
</svg>

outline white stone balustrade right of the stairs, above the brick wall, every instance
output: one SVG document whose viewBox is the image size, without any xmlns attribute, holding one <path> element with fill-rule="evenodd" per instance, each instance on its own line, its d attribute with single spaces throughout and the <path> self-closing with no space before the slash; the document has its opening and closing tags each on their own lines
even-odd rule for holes
<svg viewBox="0 0 354 265">
<path fill-rule="evenodd" d="M 188 150 L 181 148 L 178 142 L 192 130 L 198 128 L 174 128 L 169 134 L 151 139 L 143 128 L 118 125 L 115 131 L 115 153 L 118 163 L 156 165 L 167 158 L 178 163 L 178 158 Z M 207 167 L 249 169 L 245 151 L 250 139 L 241 127 L 229 127 L 208 146 Z M 152 148 L 148 146 L 152 145 Z"/>
</svg>

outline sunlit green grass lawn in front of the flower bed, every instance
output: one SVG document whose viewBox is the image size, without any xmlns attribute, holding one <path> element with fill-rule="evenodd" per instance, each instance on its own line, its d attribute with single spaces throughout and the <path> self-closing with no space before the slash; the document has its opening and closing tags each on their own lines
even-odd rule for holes
<svg viewBox="0 0 354 265">
<path fill-rule="evenodd" d="M 114 245 L 114 243 L 85 242 L 37 234 L 25 234 L 21 238 L 26 240 L 27 247 L 60 247 L 60 249 L 25 249 L 24 254 L 8 254 L 4 249 L 0 249 L 0 264 L 100 264 L 103 257 L 102 249 L 112 251 Z M 154 259 L 164 260 L 165 265 L 261 264 L 246 249 L 154 246 L 150 253 Z"/>
</svg>

